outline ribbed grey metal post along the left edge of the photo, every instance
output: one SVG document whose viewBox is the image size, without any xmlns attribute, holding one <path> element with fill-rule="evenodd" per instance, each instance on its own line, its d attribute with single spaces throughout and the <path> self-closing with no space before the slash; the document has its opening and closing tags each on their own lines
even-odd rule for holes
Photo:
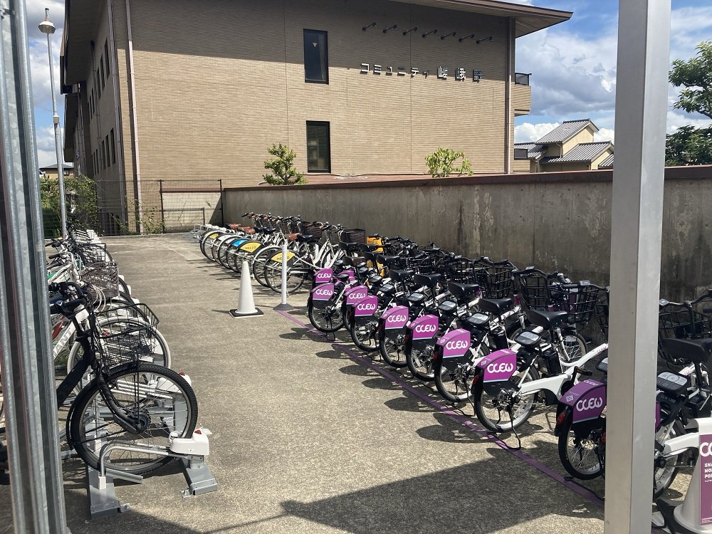
<svg viewBox="0 0 712 534">
<path fill-rule="evenodd" d="M 66 532 L 23 0 L 0 18 L 0 342 L 16 533 Z"/>
</svg>

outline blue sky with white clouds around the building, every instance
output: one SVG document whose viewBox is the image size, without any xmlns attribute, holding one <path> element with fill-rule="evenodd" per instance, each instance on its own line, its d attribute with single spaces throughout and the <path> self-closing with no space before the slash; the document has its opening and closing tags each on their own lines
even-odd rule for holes
<svg viewBox="0 0 712 534">
<path fill-rule="evenodd" d="M 689 59 L 701 41 L 712 39 L 711 0 L 671 0 L 670 58 Z M 573 11 L 570 21 L 520 37 L 515 68 L 532 73 L 530 115 L 515 119 L 515 142 L 542 137 L 564 120 L 590 118 L 600 132 L 597 140 L 615 140 L 614 108 L 618 0 L 514 0 L 516 4 Z M 60 124 L 64 124 L 64 97 L 59 95 L 59 50 L 64 23 L 63 0 L 26 0 L 34 100 L 37 154 L 40 167 L 56 163 L 52 127 L 47 38 L 37 25 L 49 8 L 57 26 L 52 36 L 53 65 Z M 706 126 L 703 115 L 672 107 L 677 90 L 669 88 L 667 131 L 684 125 Z"/>
</svg>

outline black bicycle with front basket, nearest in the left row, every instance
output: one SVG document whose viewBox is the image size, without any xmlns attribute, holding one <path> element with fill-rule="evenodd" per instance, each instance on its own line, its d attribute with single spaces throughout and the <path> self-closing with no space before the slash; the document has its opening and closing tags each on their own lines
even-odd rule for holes
<svg viewBox="0 0 712 534">
<path fill-rule="evenodd" d="M 192 436 L 198 403 L 184 377 L 177 372 L 142 361 L 153 350 L 151 328 L 158 320 L 145 305 L 110 310 L 110 321 L 93 310 L 90 299 L 74 282 L 51 284 L 61 303 L 51 313 L 62 313 L 77 328 L 82 354 L 57 388 L 62 406 L 78 384 L 82 387 L 71 404 L 66 436 L 71 449 L 97 469 L 102 449 L 112 442 L 130 445 L 105 455 L 112 469 L 137 475 L 150 473 L 172 458 L 152 454 L 151 448 L 168 445 L 170 438 Z M 140 309 L 138 309 L 140 307 Z M 89 313 L 88 326 L 77 319 Z M 130 450 L 125 450 L 130 449 Z"/>
</svg>

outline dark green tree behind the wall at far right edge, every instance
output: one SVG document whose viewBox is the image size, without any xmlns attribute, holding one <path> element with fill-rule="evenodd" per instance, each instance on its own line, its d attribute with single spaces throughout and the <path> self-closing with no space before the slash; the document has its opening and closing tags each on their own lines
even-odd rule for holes
<svg viewBox="0 0 712 534">
<path fill-rule="evenodd" d="M 672 62 L 669 80 L 682 87 L 673 107 L 712 119 L 712 41 L 702 41 L 689 61 Z M 683 126 L 665 140 L 666 165 L 712 164 L 712 127 Z"/>
</svg>

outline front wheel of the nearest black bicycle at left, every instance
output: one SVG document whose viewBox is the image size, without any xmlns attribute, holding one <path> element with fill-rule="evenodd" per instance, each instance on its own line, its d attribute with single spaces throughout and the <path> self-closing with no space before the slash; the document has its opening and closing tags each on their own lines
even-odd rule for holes
<svg viewBox="0 0 712 534">
<path fill-rule="evenodd" d="M 100 450 L 112 441 L 167 446 L 172 432 L 179 437 L 193 434 L 198 402 L 193 389 L 177 372 L 158 365 L 131 363 L 112 369 L 106 384 L 122 412 L 144 424 L 145 430 L 132 434 L 115 422 L 98 384 L 92 382 L 76 398 L 68 422 L 69 443 L 89 466 L 98 469 Z M 112 469 L 142 475 L 172 458 L 115 450 L 107 460 L 106 465 Z"/>
</svg>

